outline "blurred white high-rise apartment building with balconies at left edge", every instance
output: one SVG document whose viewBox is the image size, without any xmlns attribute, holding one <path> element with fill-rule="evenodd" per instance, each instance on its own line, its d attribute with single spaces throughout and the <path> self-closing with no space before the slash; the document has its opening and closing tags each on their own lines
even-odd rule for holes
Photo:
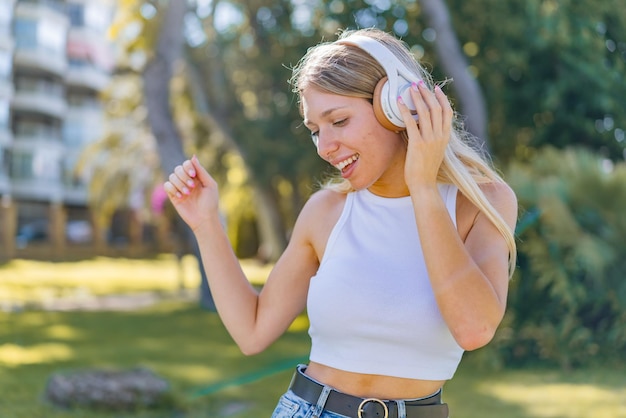
<svg viewBox="0 0 626 418">
<path fill-rule="evenodd" d="M 93 240 L 74 167 L 103 130 L 110 0 L 0 2 L 0 259 Z"/>
</svg>

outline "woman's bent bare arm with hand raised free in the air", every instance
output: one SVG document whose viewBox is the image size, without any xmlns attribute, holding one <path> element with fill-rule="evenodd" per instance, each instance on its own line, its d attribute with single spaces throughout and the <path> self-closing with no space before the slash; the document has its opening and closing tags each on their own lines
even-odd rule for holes
<svg viewBox="0 0 626 418">
<path fill-rule="evenodd" d="M 245 354 L 274 342 L 302 312 L 317 257 L 309 244 L 307 218 L 296 222 L 290 243 L 261 293 L 250 285 L 218 214 L 213 178 L 194 157 L 177 167 L 165 183 L 174 207 L 193 230 L 218 313 Z"/>
</svg>

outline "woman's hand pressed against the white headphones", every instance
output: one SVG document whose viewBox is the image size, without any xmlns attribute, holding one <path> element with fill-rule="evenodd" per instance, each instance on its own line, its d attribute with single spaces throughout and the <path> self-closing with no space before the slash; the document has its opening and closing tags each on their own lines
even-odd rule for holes
<svg viewBox="0 0 626 418">
<path fill-rule="evenodd" d="M 418 116 L 417 122 L 409 108 L 398 99 L 409 137 L 405 181 L 411 190 L 419 185 L 435 185 L 452 131 L 452 106 L 439 86 L 431 92 L 423 81 L 410 87 Z"/>
</svg>

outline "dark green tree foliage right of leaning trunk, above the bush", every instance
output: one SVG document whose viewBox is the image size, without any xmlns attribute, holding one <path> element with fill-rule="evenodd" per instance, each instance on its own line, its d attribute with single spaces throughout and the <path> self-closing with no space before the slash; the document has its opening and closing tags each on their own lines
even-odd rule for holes
<svg viewBox="0 0 626 418">
<path fill-rule="evenodd" d="M 502 160 L 543 145 L 613 160 L 626 146 L 626 9 L 620 0 L 449 0 L 487 97 Z"/>
</svg>

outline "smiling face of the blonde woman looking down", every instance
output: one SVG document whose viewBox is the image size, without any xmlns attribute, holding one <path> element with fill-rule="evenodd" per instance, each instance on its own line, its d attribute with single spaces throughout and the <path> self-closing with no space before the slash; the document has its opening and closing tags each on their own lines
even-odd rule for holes
<svg viewBox="0 0 626 418">
<path fill-rule="evenodd" d="M 408 195 L 404 182 L 406 145 L 385 129 L 373 106 L 362 98 L 308 87 L 301 93 L 304 125 L 317 153 L 337 168 L 356 190 L 386 197 Z"/>
</svg>

